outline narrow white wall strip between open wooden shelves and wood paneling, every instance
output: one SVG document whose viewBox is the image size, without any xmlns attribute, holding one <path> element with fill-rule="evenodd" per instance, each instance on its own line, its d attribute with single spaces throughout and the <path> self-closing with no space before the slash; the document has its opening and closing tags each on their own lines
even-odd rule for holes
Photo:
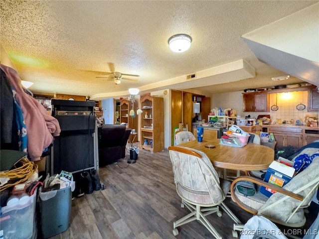
<svg viewBox="0 0 319 239">
<path fill-rule="evenodd" d="M 164 99 L 164 148 L 168 148 L 170 146 L 170 138 L 171 138 L 171 113 L 170 113 L 170 90 L 166 89 L 167 94 L 164 95 L 164 90 L 151 92 L 152 96 L 162 97 Z"/>
</svg>

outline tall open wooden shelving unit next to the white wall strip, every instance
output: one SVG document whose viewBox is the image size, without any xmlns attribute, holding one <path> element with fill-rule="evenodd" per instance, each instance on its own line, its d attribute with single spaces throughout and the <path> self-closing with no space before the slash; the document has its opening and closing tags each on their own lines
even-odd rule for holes
<svg viewBox="0 0 319 239">
<path fill-rule="evenodd" d="M 141 148 L 151 152 L 164 150 L 164 101 L 161 97 L 142 95 L 140 109 Z M 148 117 L 146 117 L 146 114 Z M 147 141 L 147 144 L 144 142 Z M 153 142 L 153 143 L 152 143 Z"/>
</svg>

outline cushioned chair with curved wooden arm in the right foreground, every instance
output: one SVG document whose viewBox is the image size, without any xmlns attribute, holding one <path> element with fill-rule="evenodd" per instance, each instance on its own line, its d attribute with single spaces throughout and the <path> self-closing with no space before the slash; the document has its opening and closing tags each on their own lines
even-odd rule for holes
<svg viewBox="0 0 319 239">
<path fill-rule="evenodd" d="M 314 152 L 311 148 L 304 149 L 300 154 Z M 314 154 L 314 153 L 313 153 Z M 308 154 L 311 156 L 311 154 Z M 255 183 L 257 193 L 253 196 L 244 196 L 236 189 L 239 181 Z M 258 192 L 259 186 L 265 186 L 276 191 L 267 198 Z M 309 207 L 312 198 L 319 186 L 319 156 L 314 157 L 312 163 L 302 172 L 298 173 L 282 188 L 266 183 L 252 176 L 241 176 L 235 179 L 230 188 L 231 198 L 245 211 L 268 218 L 274 223 L 299 228 L 306 223 L 304 209 Z M 236 231 L 243 229 L 243 225 L 234 224 L 233 236 Z"/>
</svg>

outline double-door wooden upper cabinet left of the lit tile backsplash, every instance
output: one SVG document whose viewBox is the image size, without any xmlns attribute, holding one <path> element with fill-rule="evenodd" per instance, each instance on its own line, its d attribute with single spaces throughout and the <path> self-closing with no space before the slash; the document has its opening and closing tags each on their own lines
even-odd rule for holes
<svg viewBox="0 0 319 239">
<path fill-rule="evenodd" d="M 269 112 L 269 94 L 266 92 L 243 93 L 244 112 Z"/>
</svg>

